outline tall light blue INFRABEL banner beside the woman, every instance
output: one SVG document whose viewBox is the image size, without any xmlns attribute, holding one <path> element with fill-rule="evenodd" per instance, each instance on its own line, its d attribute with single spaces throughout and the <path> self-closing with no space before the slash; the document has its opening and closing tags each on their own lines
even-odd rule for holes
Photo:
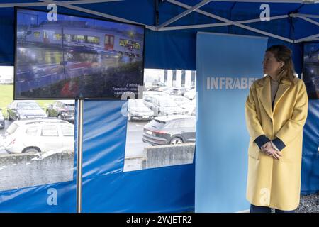
<svg viewBox="0 0 319 227">
<path fill-rule="evenodd" d="M 245 199 L 249 143 L 245 101 L 249 85 L 240 81 L 262 77 L 266 47 L 267 38 L 197 35 L 196 212 L 249 208 Z M 208 77 L 219 79 L 218 87 L 208 87 Z M 232 80 L 233 88 L 225 81 L 222 84 L 221 78 Z"/>
</svg>

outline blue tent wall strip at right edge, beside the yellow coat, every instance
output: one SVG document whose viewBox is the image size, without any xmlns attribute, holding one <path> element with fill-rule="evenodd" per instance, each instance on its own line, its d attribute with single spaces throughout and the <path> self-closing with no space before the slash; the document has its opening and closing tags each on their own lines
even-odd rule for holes
<svg viewBox="0 0 319 227">
<path fill-rule="evenodd" d="M 301 194 L 319 192 L 319 100 L 309 100 L 308 118 L 303 127 Z"/>
</svg>

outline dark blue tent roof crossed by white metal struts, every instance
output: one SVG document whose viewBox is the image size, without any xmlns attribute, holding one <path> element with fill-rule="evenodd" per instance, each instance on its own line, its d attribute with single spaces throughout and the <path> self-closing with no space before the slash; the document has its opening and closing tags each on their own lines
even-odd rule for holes
<svg viewBox="0 0 319 227">
<path fill-rule="evenodd" d="M 267 35 L 269 37 L 284 40 L 289 43 L 300 43 L 302 41 L 319 40 L 319 0 L 158 0 L 157 11 L 159 13 L 159 21 L 154 21 L 156 4 L 153 0 L 28 0 L 23 2 L 0 2 L 0 8 L 13 6 L 46 6 L 47 4 L 57 4 L 58 6 L 65 7 L 67 9 L 93 14 L 102 18 L 108 18 L 126 23 L 144 24 L 146 28 L 152 31 L 173 31 L 212 28 L 218 26 L 236 26 L 247 31 Z M 132 9 L 132 2 L 134 2 L 135 5 L 140 5 L 140 9 L 138 7 Z M 145 7 L 145 3 L 148 4 L 148 7 Z M 264 23 L 264 21 L 260 21 L 259 19 L 259 13 L 261 13 L 262 11 L 260 9 L 260 5 L 264 3 L 269 4 L 269 9 L 271 11 L 271 16 L 269 18 L 270 21 L 292 19 L 294 21 L 292 21 L 291 26 L 293 26 L 293 23 L 298 24 L 297 21 L 303 20 L 307 23 L 310 23 L 311 25 L 315 25 L 315 29 L 313 29 L 314 33 L 304 33 L 308 35 L 303 35 L 302 37 L 301 35 L 294 34 L 290 35 L 293 37 L 286 37 L 284 35 L 266 31 L 266 29 L 255 28 L 252 23 Z M 168 4 L 170 6 L 167 6 Z M 114 7 L 116 6 L 118 6 L 118 8 L 126 7 L 132 9 L 133 11 L 135 11 L 135 15 L 128 16 L 128 13 L 125 13 L 124 10 L 113 13 L 113 9 L 115 9 Z M 166 12 L 167 10 L 168 13 Z M 147 15 L 147 17 L 141 20 L 140 17 L 142 13 Z M 172 17 L 172 13 L 176 13 L 176 15 Z M 209 18 L 209 22 L 194 23 L 194 21 L 191 21 L 190 19 L 191 17 L 194 17 L 191 15 L 194 13 Z M 167 16 L 165 16 L 165 14 L 167 14 Z M 223 14 L 223 16 L 220 16 L 220 14 Z M 233 19 L 238 18 L 244 14 L 247 18 L 243 20 Z M 248 25 L 248 23 L 250 24 Z M 294 31 L 303 34 L 303 28 L 304 27 L 296 28 L 296 26 L 294 26 Z"/>
</svg>

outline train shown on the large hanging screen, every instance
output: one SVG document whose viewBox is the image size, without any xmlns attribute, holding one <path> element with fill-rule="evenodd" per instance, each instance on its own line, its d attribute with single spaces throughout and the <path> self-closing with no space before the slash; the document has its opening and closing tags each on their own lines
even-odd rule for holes
<svg viewBox="0 0 319 227">
<path fill-rule="evenodd" d="M 62 40 L 63 36 L 63 40 Z M 103 28 L 83 28 L 81 26 L 62 28 L 59 24 L 29 28 L 24 35 L 26 43 L 41 45 L 61 45 L 87 52 L 108 52 L 130 57 L 142 57 L 142 41 L 129 35 Z"/>
</svg>

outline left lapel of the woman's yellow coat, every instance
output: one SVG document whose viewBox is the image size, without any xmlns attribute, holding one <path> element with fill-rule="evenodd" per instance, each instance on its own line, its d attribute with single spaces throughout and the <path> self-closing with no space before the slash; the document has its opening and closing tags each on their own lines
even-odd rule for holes
<svg viewBox="0 0 319 227">
<path fill-rule="evenodd" d="M 270 77 L 267 76 L 264 80 L 259 82 L 259 87 L 256 88 L 257 96 L 259 97 L 260 101 L 262 102 L 262 106 L 266 113 L 268 114 L 269 118 L 273 118 L 272 116 L 272 101 L 270 96 Z"/>
</svg>

